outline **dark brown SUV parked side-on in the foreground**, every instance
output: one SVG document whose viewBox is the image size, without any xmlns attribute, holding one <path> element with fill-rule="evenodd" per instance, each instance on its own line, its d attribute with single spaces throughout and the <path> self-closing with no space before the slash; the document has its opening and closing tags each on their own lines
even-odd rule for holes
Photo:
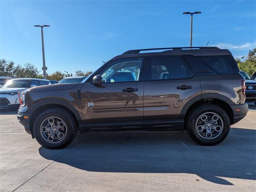
<svg viewBox="0 0 256 192">
<path fill-rule="evenodd" d="M 215 145 L 246 116 L 245 89 L 229 50 L 129 50 L 81 83 L 24 92 L 18 120 L 51 149 L 72 142 L 77 129 L 186 130 L 197 143 Z"/>
</svg>

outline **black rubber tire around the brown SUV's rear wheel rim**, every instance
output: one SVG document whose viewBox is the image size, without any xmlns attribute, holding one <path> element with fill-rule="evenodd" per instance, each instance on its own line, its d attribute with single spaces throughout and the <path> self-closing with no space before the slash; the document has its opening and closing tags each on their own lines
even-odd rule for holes
<svg viewBox="0 0 256 192">
<path fill-rule="evenodd" d="M 196 121 L 200 118 L 201 115 L 205 113 L 217 114 L 222 119 L 223 128 L 222 128 L 222 131 L 218 133 L 219 135 L 216 135 L 216 138 L 211 138 L 211 139 L 203 138 L 203 136 L 200 136 L 199 131 L 196 130 Z M 188 114 L 188 117 L 186 119 L 186 131 L 188 135 L 190 136 L 190 138 L 192 138 L 192 140 L 194 140 L 195 142 L 201 145 L 210 146 L 210 145 L 219 144 L 228 136 L 229 130 L 230 130 L 230 119 L 228 114 L 222 108 L 214 104 L 204 104 L 204 105 L 198 106 L 195 110 L 192 110 Z"/>
</svg>

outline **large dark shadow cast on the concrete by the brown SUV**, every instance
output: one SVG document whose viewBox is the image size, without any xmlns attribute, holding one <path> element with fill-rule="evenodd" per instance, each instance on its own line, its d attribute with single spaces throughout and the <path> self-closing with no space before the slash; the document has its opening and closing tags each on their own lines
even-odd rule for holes
<svg viewBox="0 0 256 192">
<path fill-rule="evenodd" d="M 221 177 L 256 179 L 255 134 L 256 130 L 231 128 L 224 142 L 200 146 L 182 132 L 92 133 L 58 159 L 56 150 L 40 147 L 39 153 L 90 172 L 189 173 L 233 185 Z"/>
</svg>

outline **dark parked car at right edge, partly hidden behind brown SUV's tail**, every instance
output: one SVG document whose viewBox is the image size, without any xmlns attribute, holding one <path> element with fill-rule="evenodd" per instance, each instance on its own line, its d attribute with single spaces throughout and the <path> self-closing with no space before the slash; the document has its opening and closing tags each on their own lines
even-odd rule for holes
<svg viewBox="0 0 256 192">
<path fill-rule="evenodd" d="M 245 79 L 245 102 L 254 102 L 254 104 L 256 105 L 256 81 L 244 71 L 240 71 L 240 74 Z"/>
</svg>

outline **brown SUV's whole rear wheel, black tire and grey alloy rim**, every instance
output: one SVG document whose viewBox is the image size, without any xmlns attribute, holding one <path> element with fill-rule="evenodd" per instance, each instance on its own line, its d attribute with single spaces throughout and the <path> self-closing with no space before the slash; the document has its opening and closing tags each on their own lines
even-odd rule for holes
<svg viewBox="0 0 256 192">
<path fill-rule="evenodd" d="M 186 131 L 190 138 L 201 145 L 216 145 L 228 136 L 230 119 L 219 106 L 205 104 L 188 115 Z"/>
</svg>

